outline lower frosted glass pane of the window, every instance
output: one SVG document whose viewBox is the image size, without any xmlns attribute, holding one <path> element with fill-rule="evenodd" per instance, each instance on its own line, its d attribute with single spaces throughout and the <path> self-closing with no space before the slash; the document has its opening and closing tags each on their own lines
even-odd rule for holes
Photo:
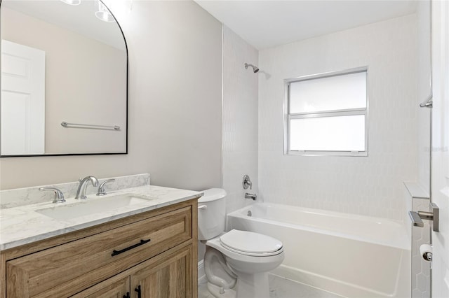
<svg viewBox="0 0 449 298">
<path fill-rule="evenodd" d="M 365 151 L 365 115 L 292 119 L 290 150 Z"/>
</svg>

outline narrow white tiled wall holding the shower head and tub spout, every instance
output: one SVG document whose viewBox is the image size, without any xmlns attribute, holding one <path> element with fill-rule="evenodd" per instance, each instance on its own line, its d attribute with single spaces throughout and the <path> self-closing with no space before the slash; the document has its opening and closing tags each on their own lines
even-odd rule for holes
<svg viewBox="0 0 449 298">
<path fill-rule="evenodd" d="M 252 203 L 245 192 L 257 193 L 257 81 L 244 64 L 257 64 L 258 52 L 231 29 L 223 27 L 223 188 L 227 212 Z M 253 190 L 243 189 L 248 174 Z"/>
</svg>

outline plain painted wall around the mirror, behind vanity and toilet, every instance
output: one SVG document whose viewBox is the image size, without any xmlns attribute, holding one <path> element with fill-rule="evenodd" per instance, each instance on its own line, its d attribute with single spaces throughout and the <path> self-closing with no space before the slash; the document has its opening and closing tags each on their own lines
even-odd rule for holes
<svg viewBox="0 0 449 298">
<path fill-rule="evenodd" d="M 1 190 L 135 173 L 221 186 L 220 22 L 193 1 L 134 1 L 117 16 L 129 50 L 128 155 L 1 158 Z"/>
</svg>

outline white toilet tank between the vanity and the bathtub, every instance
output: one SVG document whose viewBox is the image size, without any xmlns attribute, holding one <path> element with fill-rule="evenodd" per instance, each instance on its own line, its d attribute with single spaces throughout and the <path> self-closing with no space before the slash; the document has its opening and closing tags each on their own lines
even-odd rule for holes
<svg viewBox="0 0 449 298">
<path fill-rule="evenodd" d="M 198 200 L 198 239 L 208 240 L 225 232 L 226 191 L 211 188 L 203 192 Z"/>
</svg>

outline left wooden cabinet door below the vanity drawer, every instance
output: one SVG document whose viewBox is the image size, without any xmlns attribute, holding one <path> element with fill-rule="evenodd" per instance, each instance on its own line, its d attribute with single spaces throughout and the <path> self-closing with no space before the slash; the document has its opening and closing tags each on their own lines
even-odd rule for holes
<svg viewBox="0 0 449 298">
<path fill-rule="evenodd" d="M 98 285 L 83 290 L 71 298 L 128 298 L 130 296 L 129 276 L 109 278 Z"/>
</svg>

